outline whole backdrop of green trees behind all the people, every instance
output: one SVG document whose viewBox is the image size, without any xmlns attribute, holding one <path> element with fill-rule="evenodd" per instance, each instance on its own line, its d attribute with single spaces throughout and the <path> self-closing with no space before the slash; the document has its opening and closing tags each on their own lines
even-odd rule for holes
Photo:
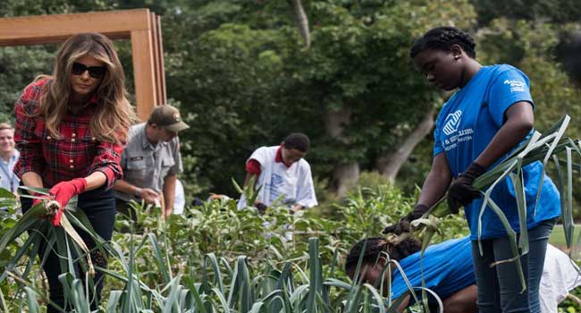
<svg viewBox="0 0 581 313">
<path fill-rule="evenodd" d="M 249 154 L 291 131 L 311 137 L 307 159 L 318 181 L 340 195 L 363 171 L 382 173 L 408 191 L 421 184 L 431 162 L 434 116 L 446 95 L 427 86 L 408 47 L 443 24 L 475 34 L 483 63 L 511 63 L 527 73 L 540 128 L 565 112 L 581 116 L 578 89 L 569 81 L 578 58 L 564 56 L 576 55 L 577 2 L 301 3 L 310 47 L 297 30 L 294 1 L 11 0 L 0 4 L 0 15 L 137 7 L 160 14 L 169 101 L 192 125 L 181 134 L 189 194 L 234 196 L 231 177 L 242 180 Z M 131 46 L 115 45 L 132 89 Z M 54 53 L 55 46 L 0 48 L 0 80 L 10 81 L 0 84 L 6 104 L 0 114 L 12 112 L 30 80 L 50 72 Z"/>
</svg>

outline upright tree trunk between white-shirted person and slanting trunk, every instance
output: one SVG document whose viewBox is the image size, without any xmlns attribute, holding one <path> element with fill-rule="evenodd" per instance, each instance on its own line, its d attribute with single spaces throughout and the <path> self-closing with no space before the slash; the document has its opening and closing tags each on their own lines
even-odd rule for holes
<svg viewBox="0 0 581 313">
<path fill-rule="evenodd" d="M 335 139 L 341 140 L 344 144 L 349 144 L 349 140 L 344 137 L 344 126 L 348 125 L 351 120 L 351 109 L 349 106 L 343 106 L 341 111 L 329 112 L 324 116 L 324 128 L 327 134 Z M 343 197 L 349 188 L 355 185 L 359 179 L 359 164 L 351 162 L 347 164 L 338 164 L 333 167 L 330 190 L 337 196 Z"/>
</svg>

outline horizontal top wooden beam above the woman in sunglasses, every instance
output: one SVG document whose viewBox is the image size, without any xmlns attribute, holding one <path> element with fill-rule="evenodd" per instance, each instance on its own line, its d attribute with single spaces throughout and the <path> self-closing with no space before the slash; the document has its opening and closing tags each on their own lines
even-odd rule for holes
<svg viewBox="0 0 581 313">
<path fill-rule="evenodd" d="M 22 16 L 0 19 L 0 46 L 62 42 L 81 32 L 130 38 L 131 31 L 149 30 L 149 10 Z"/>
</svg>

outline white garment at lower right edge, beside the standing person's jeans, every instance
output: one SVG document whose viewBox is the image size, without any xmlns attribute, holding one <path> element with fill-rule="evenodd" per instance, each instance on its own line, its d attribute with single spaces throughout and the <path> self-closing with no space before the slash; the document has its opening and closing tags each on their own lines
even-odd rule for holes
<svg viewBox="0 0 581 313">
<path fill-rule="evenodd" d="M 557 313 L 559 303 L 565 300 L 568 292 L 581 285 L 578 268 L 571 262 L 567 254 L 550 244 L 547 245 L 543 276 L 539 285 L 541 312 Z"/>
</svg>

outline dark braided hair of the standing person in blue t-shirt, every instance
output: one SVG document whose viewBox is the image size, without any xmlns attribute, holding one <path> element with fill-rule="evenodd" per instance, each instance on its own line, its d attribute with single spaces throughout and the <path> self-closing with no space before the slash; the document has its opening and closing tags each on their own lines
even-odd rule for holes
<svg viewBox="0 0 581 313">
<path fill-rule="evenodd" d="M 409 49 L 409 56 L 413 59 L 416 55 L 427 49 L 449 52 L 453 45 L 459 45 L 469 57 L 476 58 L 476 42 L 474 38 L 466 32 L 451 26 L 428 30 Z"/>
</svg>

